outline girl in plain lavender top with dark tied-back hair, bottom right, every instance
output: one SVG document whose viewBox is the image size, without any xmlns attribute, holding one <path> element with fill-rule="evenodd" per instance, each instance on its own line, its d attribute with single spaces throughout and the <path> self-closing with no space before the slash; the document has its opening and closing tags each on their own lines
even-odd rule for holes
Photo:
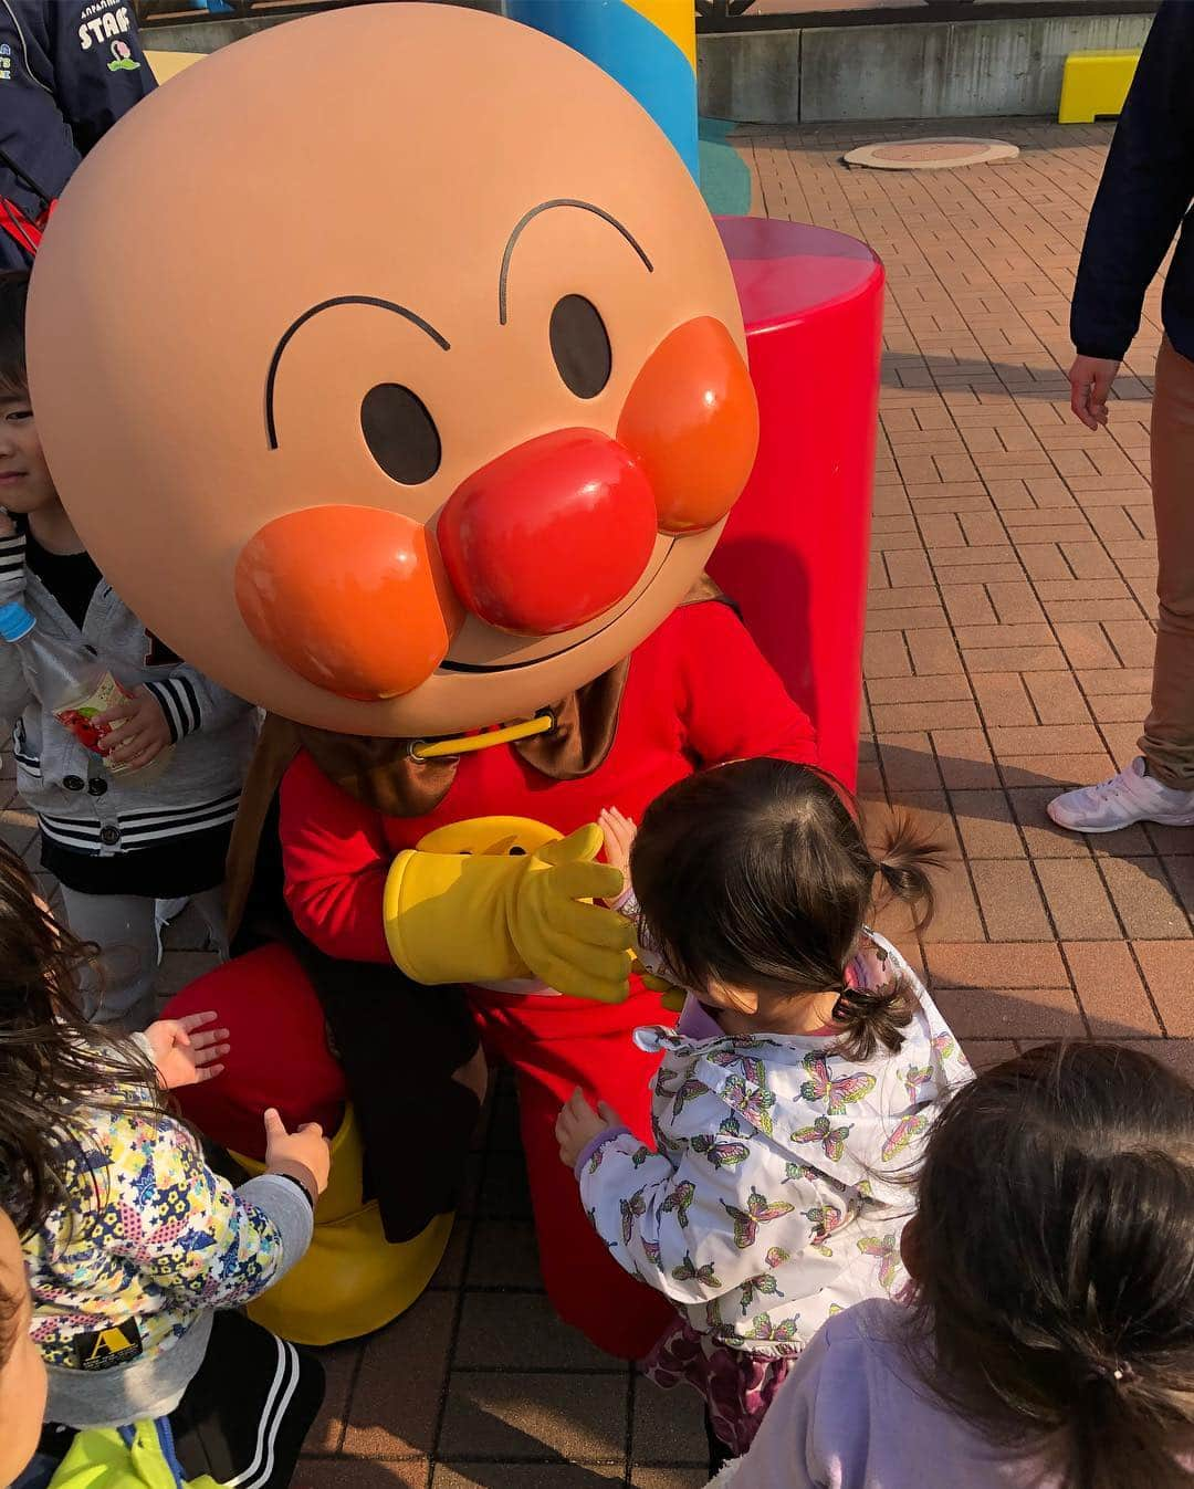
<svg viewBox="0 0 1194 1489">
<path fill-rule="evenodd" d="M 1194 1087 L 1042 1045 L 933 1127 L 911 1307 L 826 1324 L 727 1489 L 1194 1483 Z"/>
</svg>

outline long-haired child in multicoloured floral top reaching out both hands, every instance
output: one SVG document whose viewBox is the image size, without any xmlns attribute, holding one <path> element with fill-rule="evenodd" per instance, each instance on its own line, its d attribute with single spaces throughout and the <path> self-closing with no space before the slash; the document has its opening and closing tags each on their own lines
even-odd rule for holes
<svg viewBox="0 0 1194 1489">
<path fill-rule="evenodd" d="M 150 1419 L 188 1480 L 286 1489 L 323 1370 L 235 1310 L 307 1251 L 328 1144 L 266 1111 L 265 1172 L 234 1188 L 165 1096 L 219 1077 L 228 1030 L 208 1013 L 97 1030 L 79 993 L 91 950 L 0 844 L 0 1205 L 48 1385 L 15 1489 L 43 1489 L 76 1429 Z"/>
</svg>

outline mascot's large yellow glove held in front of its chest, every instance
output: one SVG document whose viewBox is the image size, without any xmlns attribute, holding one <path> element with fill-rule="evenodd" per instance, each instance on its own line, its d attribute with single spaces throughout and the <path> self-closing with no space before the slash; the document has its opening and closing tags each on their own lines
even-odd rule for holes
<svg viewBox="0 0 1194 1489">
<path fill-rule="evenodd" d="M 594 823 L 521 858 L 399 853 L 386 880 L 390 956 L 417 983 L 496 983 L 537 977 L 573 998 L 630 996 L 634 929 L 612 899 L 622 874 L 594 859 Z"/>
</svg>

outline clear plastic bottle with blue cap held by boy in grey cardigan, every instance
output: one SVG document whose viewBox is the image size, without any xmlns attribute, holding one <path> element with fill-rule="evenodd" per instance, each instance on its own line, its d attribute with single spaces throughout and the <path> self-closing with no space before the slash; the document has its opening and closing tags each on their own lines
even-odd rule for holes
<svg viewBox="0 0 1194 1489">
<path fill-rule="evenodd" d="M 100 750 L 106 728 L 95 727 L 95 718 L 115 709 L 133 692 L 124 686 L 98 657 L 79 652 L 60 636 L 48 636 L 37 628 L 37 618 L 24 605 L 0 605 L 0 637 L 21 655 L 25 680 L 43 707 L 70 730 L 79 743 L 104 762 L 113 776 L 135 774 L 140 780 L 161 774 L 171 750 L 165 749 L 147 765 L 110 761 Z"/>
</svg>

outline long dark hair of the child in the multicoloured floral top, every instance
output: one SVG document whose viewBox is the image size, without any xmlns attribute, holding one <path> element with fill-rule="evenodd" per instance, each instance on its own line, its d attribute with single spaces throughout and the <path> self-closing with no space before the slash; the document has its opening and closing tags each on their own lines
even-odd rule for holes
<svg viewBox="0 0 1194 1489">
<path fill-rule="evenodd" d="M 22 1236 L 66 1197 L 63 1139 L 85 1139 L 88 1108 L 162 1109 L 149 1057 L 79 1010 L 79 971 L 94 953 L 0 844 L 0 1202 Z"/>
</svg>

